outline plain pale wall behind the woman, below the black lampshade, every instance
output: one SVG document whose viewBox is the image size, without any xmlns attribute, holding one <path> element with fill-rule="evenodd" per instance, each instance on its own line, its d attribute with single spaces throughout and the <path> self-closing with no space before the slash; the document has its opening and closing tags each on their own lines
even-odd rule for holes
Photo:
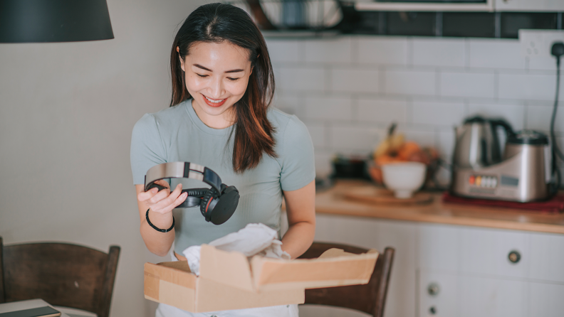
<svg viewBox="0 0 564 317">
<path fill-rule="evenodd" d="M 174 31 L 204 2 L 108 0 L 113 40 L 0 44 L 0 236 L 120 245 L 112 316 L 154 316 L 130 136 L 168 107 Z"/>
</svg>

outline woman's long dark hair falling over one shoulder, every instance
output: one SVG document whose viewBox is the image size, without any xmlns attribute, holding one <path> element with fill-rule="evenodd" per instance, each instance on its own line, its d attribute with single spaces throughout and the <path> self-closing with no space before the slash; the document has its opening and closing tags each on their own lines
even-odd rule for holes
<svg viewBox="0 0 564 317">
<path fill-rule="evenodd" d="M 174 38 L 170 52 L 170 106 L 191 97 L 186 89 L 179 55 L 184 59 L 191 45 L 198 42 L 223 41 L 249 50 L 253 68 L 245 94 L 233 106 L 236 112 L 236 128 L 231 131 L 231 136 L 235 137 L 233 169 L 236 173 L 242 173 L 256 167 L 263 152 L 276 157 L 272 136 L 274 128 L 266 118 L 266 109 L 274 93 L 274 75 L 264 38 L 249 14 L 230 4 L 205 4 L 186 18 Z"/>
</svg>

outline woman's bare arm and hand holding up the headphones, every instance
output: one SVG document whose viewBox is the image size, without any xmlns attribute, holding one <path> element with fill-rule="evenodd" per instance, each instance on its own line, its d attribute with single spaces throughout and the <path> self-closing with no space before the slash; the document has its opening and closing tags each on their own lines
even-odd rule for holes
<svg viewBox="0 0 564 317">
<path fill-rule="evenodd" d="M 165 186 L 167 189 L 157 192 L 157 188 L 152 188 L 145 192 L 142 184 L 135 185 L 141 220 L 140 232 L 147 249 L 160 257 L 164 257 L 172 247 L 172 242 L 174 242 L 174 229 L 169 232 L 158 232 L 152 228 L 145 217 L 147 209 L 149 209 L 149 220 L 155 227 L 168 229 L 172 225 L 172 209 L 186 199 L 187 193 L 180 195 L 182 184 L 178 184 L 171 193 L 167 182 L 157 181 L 155 183 Z"/>
</svg>

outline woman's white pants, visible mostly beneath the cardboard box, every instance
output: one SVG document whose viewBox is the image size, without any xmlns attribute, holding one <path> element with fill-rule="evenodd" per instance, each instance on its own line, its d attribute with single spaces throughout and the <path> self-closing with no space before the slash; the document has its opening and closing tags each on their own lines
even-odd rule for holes
<svg viewBox="0 0 564 317">
<path fill-rule="evenodd" d="M 172 247 L 174 250 L 174 246 Z M 170 252 L 172 261 L 178 261 L 174 252 Z M 210 313 L 190 313 L 182 309 L 159 303 L 155 317 L 298 317 L 298 305 L 236 309 L 234 311 L 214 311 Z"/>
</svg>

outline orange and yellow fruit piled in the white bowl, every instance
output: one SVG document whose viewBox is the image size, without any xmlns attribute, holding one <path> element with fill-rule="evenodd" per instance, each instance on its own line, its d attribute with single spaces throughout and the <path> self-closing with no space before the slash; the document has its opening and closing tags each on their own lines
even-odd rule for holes
<svg viewBox="0 0 564 317">
<path fill-rule="evenodd" d="M 398 162 L 419 162 L 427 167 L 425 178 L 429 178 L 434 173 L 432 166 L 435 166 L 439 157 L 437 151 L 432 147 L 422 147 L 414 141 L 406 141 L 402 133 L 395 133 L 396 124 L 392 124 L 388 129 L 387 137 L 378 144 L 372 154 L 372 163 L 368 168 L 368 173 L 376 183 L 383 183 L 382 166 L 389 163 Z"/>
</svg>

